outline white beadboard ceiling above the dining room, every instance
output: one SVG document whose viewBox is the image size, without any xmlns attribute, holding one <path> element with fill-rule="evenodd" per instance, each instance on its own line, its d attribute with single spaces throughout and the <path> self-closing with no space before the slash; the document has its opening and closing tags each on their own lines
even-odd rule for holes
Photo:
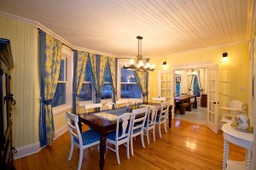
<svg viewBox="0 0 256 170">
<path fill-rule="evenodd" d="M 1 0 L 0 10 L 40 24 L 77 48 L 114 56 L 174 54 L 247 40 L 253 0 Z"/>
</svg>

